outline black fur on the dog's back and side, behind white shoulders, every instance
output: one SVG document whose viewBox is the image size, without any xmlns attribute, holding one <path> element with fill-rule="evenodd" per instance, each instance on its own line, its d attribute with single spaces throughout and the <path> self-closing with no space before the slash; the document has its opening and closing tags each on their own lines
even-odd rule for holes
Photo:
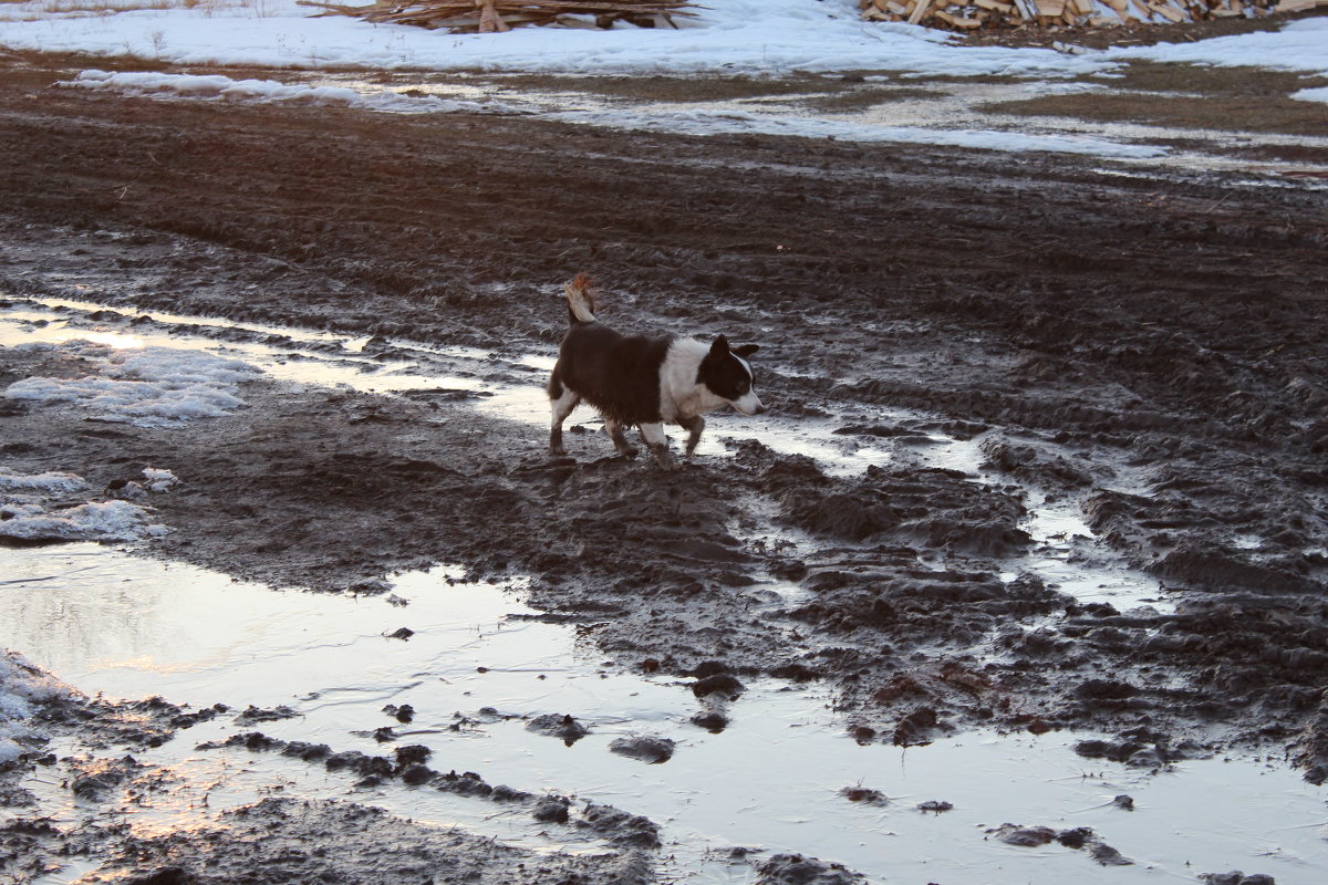
<svg viewBox="0 0 1328 885">
<path fill-rule="evenodd" d="M 567 387 L 624 426 L 660 421 L 660 366 L 672 337 L 627 337 L 602 322 L 575 322 L 563 337 L 548 391 Z"/>
</svg>

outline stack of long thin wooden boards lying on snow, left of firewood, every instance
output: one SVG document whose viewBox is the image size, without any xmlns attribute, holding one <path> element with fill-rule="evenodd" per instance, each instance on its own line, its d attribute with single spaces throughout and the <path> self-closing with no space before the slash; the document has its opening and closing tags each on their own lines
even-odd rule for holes
<svg viewBox="0 0 1328 885">
<path fill-rule="evenodd" d="M 870 0 L 869 0 L 870 1 Z M 692 16 L 683 7 L 691 0 L 376 0 L 367 7 L 347 7 L 325 0 L 300 0 L 316 7 L 320 16 L 352 16 L 376 24 L 446 28 L 453 33 L 498 33 L 517 25 L 555 24 L 562 16 L 594 16 L 600 28 L 629 21 L 644 28 L 673 24 Z"/>
</svg>

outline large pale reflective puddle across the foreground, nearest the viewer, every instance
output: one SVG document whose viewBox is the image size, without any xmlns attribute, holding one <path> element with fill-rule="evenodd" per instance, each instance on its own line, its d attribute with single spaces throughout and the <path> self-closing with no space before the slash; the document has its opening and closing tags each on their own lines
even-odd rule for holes
<svg viewBox="0 0 1328 885">
<path fill-rule="evenodd" d="M 193 567 L 165 565 L 93 544 L 0 548 L 0 644 L 88 693 L 174 702 L 291 706 L 292 719 L 256 726 L 335 750 L 390 751 L 369 731 L 393 724 L 401 743 L 433 750 L 438 770 L 490 783 L 611 803 L 664 827 L 664 872 L 675 881 L 745 882 L 725 861 L 736 845 L 835 860 L 871 881 L 1085 881 L 1084 852 L 1028 849 L 988 835 L 1003 823 L 1092 827 L 1134 860 L 1112 881 L 1193 880 L 1199 872 L 1264 872 L 1283 885 L 1321 881 L 1328 868 L 1328 791 L 1282 766 L 1194 760 L 1149 776 L 1077 756 L 1086 735 L 977 734 L 928 747 L 858 746 L 830 699 L 813 687 L 753 682 L 709 734 L 688 719 L 696 701 L 671 679 L 602 670 L 570 625 L 525 620 L 515 588 L 450 584 L 445 569 L 397 579 L 393 594 L 279 592 Z M 398 626 L 409 641 L 385 638 Z M 410 703 L 409 726 L 382 713 Z M 450 731 L 453 713 L 494 707 L 510 716 L 570 713 L 592 727 L 572 747 L 533 734 L 522 718 Z M 195 751 L 201 740 L 248 731 L 231 716 L 181 732 L 141 762 L 182 782 L 135 812 L 145 832 L 197 824 L 208 809 L 264 795 L 351 797 L 418 821 L 462 825 L 542 851 L 590 851 L 558 832 L 540 836 L 523 812 L 390 784 L 351 791 L 320 766 L 242 750 Z M 627 734 L 672 738 L 677 752 L 647 766 L 608 752 Z M 74 815 L 65 791 L 35 783 L 44 811 Z M 851 803 L 845 787 L 890 797 Z M 1112 804 L 1134 799 L 1135 811 Z M 916 805 L 944 800 L 927 815 Z M 757 857 L 761 857 L 760 854 Z M 82 868 L 49 881 L 70 881 Z"/>
</svg>

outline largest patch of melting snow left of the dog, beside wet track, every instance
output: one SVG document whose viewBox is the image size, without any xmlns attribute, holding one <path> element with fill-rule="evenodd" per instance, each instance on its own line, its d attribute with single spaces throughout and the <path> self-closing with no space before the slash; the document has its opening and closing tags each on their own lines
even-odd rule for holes
<svg viewBox="0 0 1328 885">
<path fill-rule="evenodd" d="M 98 369 L 82 378 L 24 378 L 4 390 L 7 399 L 70 403 L 101 421 L 166 427 L 224 415 L 244 405 L 238 385 L 258 369 L 202 350 L 142 348 L 116 350 L 88 341 L 36 344 L 76 356 Z"/>
</svg>

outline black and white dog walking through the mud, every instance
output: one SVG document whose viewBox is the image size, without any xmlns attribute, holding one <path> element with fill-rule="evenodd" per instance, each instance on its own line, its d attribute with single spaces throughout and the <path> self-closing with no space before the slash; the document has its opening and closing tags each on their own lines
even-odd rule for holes
<svg viewBox="0 0 1328 885">
<path fill-rule="evenodd" d="M 566 455 L 563 421 L 582 399 L 604 417 L 604 430 L 620 455 L 632 458 L 636 448 L 623 431 L 640 427 L 641 439 L 660 467 L 672 468 L 664 425 L 679 425 L 691 437 L 687 454 L 705 430 L 706 411 L 733 406 L 744 415 L 765 411 L 752 389 L 752 366 L 745 357 L 754 344 L 730 348 L 722 334 L 713 344 L 665 336 L 627 337 L 595 318 L 590 277 L 584 273 L 563 287 L 571 328 L 558 350 L 558 365 L 548 378 L 554 410 L 548 451 Z"/>
</svg>

